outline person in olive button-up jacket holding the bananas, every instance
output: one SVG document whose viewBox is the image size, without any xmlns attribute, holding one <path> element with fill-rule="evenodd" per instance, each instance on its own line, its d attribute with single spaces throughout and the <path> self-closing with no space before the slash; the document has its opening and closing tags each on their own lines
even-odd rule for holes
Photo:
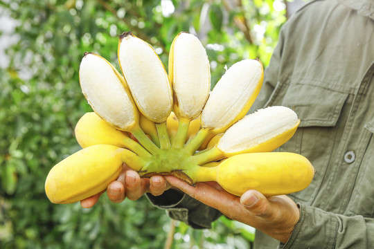
<svg viewBox="0 0 374 249">
<path fill-rule="evenodd" d="M 281 28 L 252 109 L 282 105 L 298 114 L 299 129 L 277 150 L 311 161 L 317 172 L 309 187 L 237 197 L 216 183 L 141 179 L 125 167 L 109 199 L 148 193 L 153 205 L 193 228 L 210 228 L 224 214 L 256 228 L 254 248 L 374 248 L 373 74 L 374 1 L 311 1 Z"/>
</svg>

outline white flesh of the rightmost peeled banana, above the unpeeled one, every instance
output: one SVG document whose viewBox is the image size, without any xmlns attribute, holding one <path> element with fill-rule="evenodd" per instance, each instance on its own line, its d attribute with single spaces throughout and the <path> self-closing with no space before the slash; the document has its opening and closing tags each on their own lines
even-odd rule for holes
<svg viewBox="0 0 374 249">
<path fill-rule="evenodd" d="M 259 109 L 227 129 L 217 148 L 226 153 L 244 151 L 280 136 L 297 124 L 299 118 L 290 108 L 276 106 Z"/>
</svg>

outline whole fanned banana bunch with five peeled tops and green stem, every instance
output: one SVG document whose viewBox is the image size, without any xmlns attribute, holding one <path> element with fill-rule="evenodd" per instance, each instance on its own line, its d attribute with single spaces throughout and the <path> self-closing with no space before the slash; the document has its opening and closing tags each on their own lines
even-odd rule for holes
<svg viewBox="0 0 374 249">
<path fill-rule="evenodd" d="M 52 203 L 105 190 L 123 163 L 141 177 L 216 181 L 237 196 L 250 189 L 290 194 L 312 181 L 306 158 L 271 152 L 296 131 L 294 111 L 267 107 L 246 116 L 262 86 L 258 59 L 233 64 L 213 91 L 206 50 L 189 33 L 173 40 L 168 73 L 152 46 L 131 32 L 120 36 L 118 60 L 122 74 L 100 55 L 84 53 L 80 86 L 94 112 L 75 127 L 83 149 L 46 178 Z"/>
</svg>

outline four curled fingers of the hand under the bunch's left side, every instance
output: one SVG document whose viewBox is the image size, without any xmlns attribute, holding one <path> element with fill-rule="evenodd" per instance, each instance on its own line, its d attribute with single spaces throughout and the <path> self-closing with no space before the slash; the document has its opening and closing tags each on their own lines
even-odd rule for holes
<svg viewBox="0 0 374 249">
<path fill-rule="evenodd" d="M 140 178 L 137 172 L 123 164 L 122 172 L 117 180 L 108 185 L 107 195 L 109 200 L 114 203 L 120 203 L 125 200 L 126 197 L 132 201 L 136 201 L 145 193 L 159 196 L 163 194 L 164 191 L 170 189 L 170 187 L 170 184 L 165 181 L 163 176 Z M 80 201 L 80 205 L 82 208 L 92 208 L 104 192 L 105 190 Z"/>
</svg>

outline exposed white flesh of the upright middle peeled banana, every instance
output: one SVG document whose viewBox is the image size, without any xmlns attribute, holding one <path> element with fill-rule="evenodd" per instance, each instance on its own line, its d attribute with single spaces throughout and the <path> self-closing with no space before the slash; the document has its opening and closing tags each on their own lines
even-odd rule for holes
<svg viewBox="0 0 374 249">
<path fill-rule="evenodd" d="M 195 35 L 179 33 L 172 43 L 169 75 L 177 97 L 177 116 L 193 120 L 201 113 L 211 89 L 206 50 Z"/>
</svg>

